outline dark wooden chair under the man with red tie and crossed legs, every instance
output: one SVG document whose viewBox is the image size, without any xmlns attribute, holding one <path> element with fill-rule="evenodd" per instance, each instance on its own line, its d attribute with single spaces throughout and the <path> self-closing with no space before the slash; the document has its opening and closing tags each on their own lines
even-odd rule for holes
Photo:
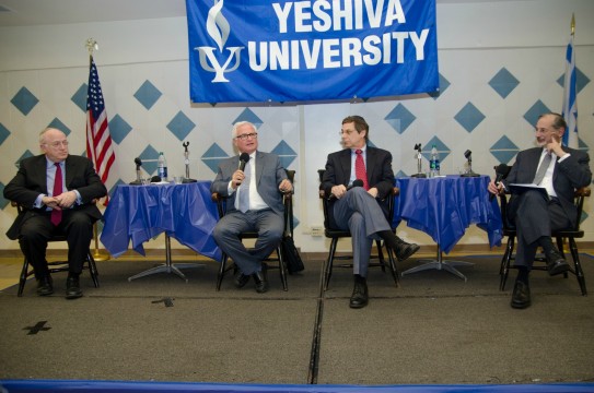
<svg viewBox="0 0 594 393">
<path fill-rule="evenodd" d="M 325 169 L 318 169 L 317 174 L 319 177 L 319 190 L 318 190 L 318 198 L 322 201 L 322 209 L 324 211 L 324 236 L 328 239 L 330 239 L 330 249 L 328 251 L 328 258 L 325 261 L 324 264 L 324 290 L 328 289 L 328 285 L 330 282 L 330 277 L 333 275 L 333 267 L 334 267 L 334 261 L 335 260 L 352 260 L 352 255 L 336 255 L 336 247 L 338 246 L 338 240 L 341 238 L 350 238 L 351 233 L 348 229 L 337 229 L 333 228 L 330 226 L 330 195 L 327 195 L 326 192 L 322 189 L 322 179 L 324 178 Z M 389 223 L 392 223 L 392 218 L 394 217 L 394 198 L 397 196 L 400 193 L 400 190 L 397 187 L 394 187 L 392 189 L 392 193 L 387 196 L 387 205 L 388 205 L 388 216 L 386 217 Z M 392 228 L 394 233 L 396 233 L 396 228 Z M 394 279 L 394 284 L 398 287 L 399 286 L 399 272 L 396 266 L 396 259 L 394 257 L 394 251 L 385 247 L 386 254 L 387 254 L 387 263 L 384 258 L 384 243 L 381 240 L 375 241 L 376 248 L 377 248 L 377 254 L 370 257 L 370 267 L 382 267 L 382 271 L 386 271 L 386 265 L 389 267 L 389 271 L 392 273 L 392 277 Z M 377 261 L 377 262 L 372 262 Z M 352 269 L 352 263 L 343 263 L 338 265 L 338 267 L 348 267 Z"/>
</svg>

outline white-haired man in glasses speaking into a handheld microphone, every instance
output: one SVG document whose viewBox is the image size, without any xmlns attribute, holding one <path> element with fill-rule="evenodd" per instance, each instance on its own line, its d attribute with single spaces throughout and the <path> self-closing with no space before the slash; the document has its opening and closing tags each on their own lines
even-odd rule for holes
<svg viewBox="0 0 594 393">
<path fill-rule="evenodd" d="M 284 228 L 282 193 L 293 190 L 276 154 L 258 151 L 256 127 L 248 121 L 233 126 L 231 136 L 238 154 L 219 164 L 210 187 L 228 199 L 226 213 L 217 224 L 213 237 L 237 265 L 237 288 L 254 278 L 257 293 L 268 290 L 263 261 L 277 248 Z M 240 239 L 245 231 L 257 231 L 258 239 L 248 250 Z"/>
</svg>

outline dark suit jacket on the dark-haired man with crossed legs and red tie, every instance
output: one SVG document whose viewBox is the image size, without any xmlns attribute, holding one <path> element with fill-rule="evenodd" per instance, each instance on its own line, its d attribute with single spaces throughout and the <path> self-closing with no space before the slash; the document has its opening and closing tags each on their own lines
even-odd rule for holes
<svg viewBox="0 0 594 393">
<path fill-rule="evenodd" d="M 386 195 L 394 188 L 394 171 L 392 170 L 392 154 L 388 151 L 368 146 L 365 169 L 370 188 L 377 188 L 377 201 L 387 217 L 388 209 Z M 338 184 L 348 186 L 351 177 L 351 150 L 345 148 L 328 155 L 326 170 L 322 178 L 321 188 L 329 195 L 331 188 Z M 333 203 L 330 202 L 330 225 L 334 225 Z"/>
</svg>

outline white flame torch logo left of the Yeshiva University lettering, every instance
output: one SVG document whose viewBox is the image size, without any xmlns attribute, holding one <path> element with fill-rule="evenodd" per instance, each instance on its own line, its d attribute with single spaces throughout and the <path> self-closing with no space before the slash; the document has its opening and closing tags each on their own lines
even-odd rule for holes
<svg viewBox="0 0 594 393">
<path fill-rule="evenodd" d="M 224 45 L 231 32 L 229 22 L 221 13 L 223 2 L 224 0 L 214 0 L 214 5 L 208 11 L 207 17 L 207 33 L 214 40 L 214 44 L 217 44 L 219 48 L 218 52 L 216 52 L 217 48 L 214 47 L 201 46 L 195 48 L 200 53 L 200 66 L 202 69 L 214 72 L 214 79 L 211 82 L 229 82 L 224 74 L 225 72 L 235 71 L 240 67 L 240 53 L 244 49 L 244 47 L 226 48 L 229 50 L 226 60 L 224 60 L 222 66 L 219 62 L 219 58 L 224 57 Z M 233 60 L 235 63 L 231 66 Z"/>
</svg>

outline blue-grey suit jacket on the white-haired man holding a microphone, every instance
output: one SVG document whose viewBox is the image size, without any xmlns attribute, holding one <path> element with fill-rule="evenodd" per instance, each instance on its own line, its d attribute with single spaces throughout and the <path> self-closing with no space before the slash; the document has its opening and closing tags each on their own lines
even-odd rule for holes
<svg viewBox="0 0 594 393">
<path fill-rule="evenodd" d="M 235 195 L 229 195 L 228 186 L 231 177 L 237 170 L 240 156 L 223 159 L 219 164 L 217 177 L 210 186 L 210 192 L 218 192 L 223 196 L 230 196 L 226 202 L 229 211 L 235 210 Z M 280 182 L 287 179 L 287 171 L 280 164 L 278 155 L 272 153 L 256 152 L 256 187 L 264 202 L 277 214 L 283 214 L 282 194 L 279 191 Z"/>
</svg>

